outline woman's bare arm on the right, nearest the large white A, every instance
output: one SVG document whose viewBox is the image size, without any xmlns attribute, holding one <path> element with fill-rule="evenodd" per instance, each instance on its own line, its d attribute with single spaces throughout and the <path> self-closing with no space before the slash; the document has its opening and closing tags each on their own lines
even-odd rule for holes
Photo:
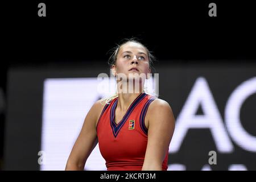
<svg viewBox="0 0 256 182">
<path fill-rule="evenodd" d="M 148 141 L 142 170 L 162 170 L 174 133 L 175 118 L 168 102 L 156 99 L 148 107 Z"/>
</svg>

